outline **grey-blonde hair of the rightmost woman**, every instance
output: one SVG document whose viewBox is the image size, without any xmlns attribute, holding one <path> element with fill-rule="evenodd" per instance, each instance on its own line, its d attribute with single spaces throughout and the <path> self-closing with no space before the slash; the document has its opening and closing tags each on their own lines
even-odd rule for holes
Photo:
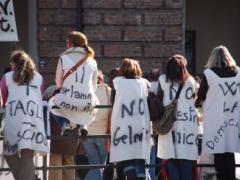
<svg viewBox="0 0 240 180">
<path fill-rule="evenodd" d="M 233 57 L 231 56 L 230 52 L 225 46 L 217 46 L 215 47 L 208 59 L 206 64 L 206 68 L 218 67 L 235 67 L 236 62 L 234 61 Z"/>
</svg>

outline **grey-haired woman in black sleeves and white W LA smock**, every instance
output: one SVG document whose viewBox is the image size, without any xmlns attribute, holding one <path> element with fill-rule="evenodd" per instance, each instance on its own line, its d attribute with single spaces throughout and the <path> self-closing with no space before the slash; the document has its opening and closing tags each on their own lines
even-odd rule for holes
<svg viewBox="0 0 240 180">
<path fill-rule="evenodd" d="M 195 103 L 203 106 L 202 150 L 214 155 L 219 180 L 235 180 L 234 152 L 240 152 L 240 68 L 225 46 L 212 50 L 205 67 Z"/>
</svg>

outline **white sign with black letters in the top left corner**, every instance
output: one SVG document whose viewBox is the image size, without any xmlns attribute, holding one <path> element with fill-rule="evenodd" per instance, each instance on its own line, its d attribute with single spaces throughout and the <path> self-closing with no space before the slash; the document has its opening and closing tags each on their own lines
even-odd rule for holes
<svg viewBox="0 0 240 180">
<path fill-rule="evenodd" d="M 0 41 L 18 41 L 12 0 L 0 0 Z"/>
</svg>

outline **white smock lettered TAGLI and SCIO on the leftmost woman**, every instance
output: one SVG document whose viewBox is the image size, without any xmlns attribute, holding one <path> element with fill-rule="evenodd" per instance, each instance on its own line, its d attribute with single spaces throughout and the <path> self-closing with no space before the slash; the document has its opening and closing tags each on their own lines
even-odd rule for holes
<svg viewBox="0 0 240 180">
<path fill-rule="evenodd" d="M 5 76 L 8 99 L 3 129 L 3 154 L 12 155 L 21 149 L 32 149 L 41 154 L 48 153 L 41 97 L 41 75 L 35 73 L 28 85 L 15 83 L 12 71 Z"/>
</svg>

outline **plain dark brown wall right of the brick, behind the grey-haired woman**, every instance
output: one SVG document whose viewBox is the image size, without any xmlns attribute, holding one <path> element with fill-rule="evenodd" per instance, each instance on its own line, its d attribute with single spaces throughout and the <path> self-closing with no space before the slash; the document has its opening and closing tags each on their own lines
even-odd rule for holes
<svg viewBox="0 0 240 180">
<path fill-rule="evenodd" d="M 186 30 L 196 31 L 196 72 L 202 72 L 213 47 L 228 47 L 240 62 L 240 1 L 186 0 Z"/>
</svg>

